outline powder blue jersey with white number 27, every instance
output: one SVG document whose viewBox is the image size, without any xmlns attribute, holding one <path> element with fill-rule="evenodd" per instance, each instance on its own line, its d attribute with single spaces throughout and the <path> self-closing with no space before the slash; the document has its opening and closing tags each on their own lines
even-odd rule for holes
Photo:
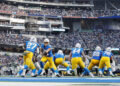
<svg viewBox="0 0 120 86">
<path fill-rule="evenodd" d="M 30 51 L 30 52 L 35 52 L 37 47 L 39 47 L 39 44 L 36 42 L 30 42 L 30 41 L 26 41 L 26 50 Z"/>
</svg>

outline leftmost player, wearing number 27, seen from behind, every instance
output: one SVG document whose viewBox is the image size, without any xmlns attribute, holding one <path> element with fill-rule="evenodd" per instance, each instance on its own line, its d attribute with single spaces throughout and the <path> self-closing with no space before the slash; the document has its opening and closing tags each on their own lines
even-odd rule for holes
<svg viewBox="0 0 120 86">
<path fill-rule="evenodd" d="M 33 63 L 33 56 L 37 48 L 39 48 L 39 44 L 37 43 L 36 37 L 32 36 L 30 38 L 30 41 L 26 41 L 25 48 L 26 49 L 23 53 L 24 67 L 22 70 L 19 71 L 19 74 L 21 74 L 21 76 L 25 76 L 26 70 L 29 68 L 29 69 L 32 69 L 31 76 L 35 77 L 36 67 Z"/>
</svg>

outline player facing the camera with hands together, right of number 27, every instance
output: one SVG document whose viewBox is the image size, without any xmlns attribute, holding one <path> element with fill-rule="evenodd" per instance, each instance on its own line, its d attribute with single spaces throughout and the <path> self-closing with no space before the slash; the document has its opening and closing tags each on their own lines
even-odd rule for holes
<svg viewBox="0 0 120 86">
<path fill-rule="evenodd" d="M 52 70 L 52 72 L 55 73 L 55 76 L 60 77 L 59 73 L 57 71 L 57 68 L 55 68 L 55 64 L 53 61 L 53 53 L 52 53 L 52 47 L 49 44 L 49 39 L 44 39 L 44 44 L 41 44 L 41 49 L 40 49 L 40 54 L 42 55 L 41 61 L 40 61 L 40 65 L 41 65 L 41 72 L 39 72 L 38 74 L 43 75 L 44 71 L 44 63 L 45 62 L 49 62 L 50 68 Z"/>
</svg>

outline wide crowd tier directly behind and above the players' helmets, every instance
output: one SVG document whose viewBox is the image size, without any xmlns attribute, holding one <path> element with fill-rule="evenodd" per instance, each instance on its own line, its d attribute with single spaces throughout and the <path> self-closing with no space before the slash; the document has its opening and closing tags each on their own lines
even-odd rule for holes
<svg viewBox="0 0 120 86">
<path fill-rule="evenodd" d="M 50 44 L 54 48 L 72 48 L 77 42 L 81 43 L 85 49 L 94 49 L 96 45 L 101 46 L 103 49 L 108 46 L 120 47 L 120 31 L 61 33 L 46 37 L 50 39 Z M 44 38 L 45 36 L 38 38 L 38 43 L 41 44 Z M 0 34 L 0 44 L 19 45 L 28 39 L 28 37 L 22 34 L 13 35 L 4 32 Z"/>
</svg>

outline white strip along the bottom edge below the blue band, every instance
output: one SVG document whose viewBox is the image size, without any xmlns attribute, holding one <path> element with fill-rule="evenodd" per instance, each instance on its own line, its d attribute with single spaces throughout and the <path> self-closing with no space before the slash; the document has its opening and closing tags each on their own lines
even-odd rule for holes
<svg viewBox="0 0 120 86">
<path fill-rule="evenodd" d="M 119 83 L 40 83 L 40 82 L 0 82 L 0 86 L 120 86 Z"/>
</svg>

